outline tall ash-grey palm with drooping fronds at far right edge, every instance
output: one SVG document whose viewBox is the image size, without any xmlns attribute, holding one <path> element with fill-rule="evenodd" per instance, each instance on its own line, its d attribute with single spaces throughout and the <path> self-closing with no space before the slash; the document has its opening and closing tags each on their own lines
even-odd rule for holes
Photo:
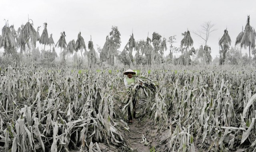
<svg viewBox="0 0 256 152">
<path fill-rule="evenodd" d="M 250 49 L 255 47 L 255 33 L 250 25 L 250 16 L 247 16 L 247 23 L 244 28 L 244 32 L 240 32 L 236 37 L 236 44 L 240 43 L 241 47 L 249 47 L 249 57 L 251 57 Z"/>
</svg>

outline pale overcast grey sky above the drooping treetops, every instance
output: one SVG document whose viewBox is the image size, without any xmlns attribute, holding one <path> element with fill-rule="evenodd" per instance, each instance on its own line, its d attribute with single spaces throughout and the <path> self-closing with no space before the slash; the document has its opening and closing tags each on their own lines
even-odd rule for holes
<svg viewBox="0 0 256 152">
<path fill-rule="evenodd" d="M 166 39 L 176 35 L 174 46 L 179 47 L 181 33 L 187 29 L 198 31 L 204 22 L 211 21 L 217 30 L 210 34 L 208 45 L 215 58 L 219 54 L 218 39 L 226 27 L 232 46 L 246 25 L 247 15 L 250 15 L 250 25 L 256 28 L 256 0 L 1 0 L 1 6 L 0 27 L 4 26 L 4 19 L 8 19 L 9 25 L 14 24 L 17 30 L 28 21 L 29 15 L 35 29 L 41 26 L 40 34 L 43 23 L 47 22 L 48 35 L 52 33 L 55 43 L 62 31 L 66 33 L 67 43 L 72 39 L 76 41 L 81 31 L 86 47 L 92 35 L 94 49 L 96 45 L 103 47 L 112 25 L 120 31 L 122 51 L 132 29 L 136 41 L 146 39 L 148 32 L 152 39 L 154 31 Z M 191 37 L 193 47 L 198 49 L 203 40 L 192 32 Z M 37 47 L 41 49 L 43 45 Z M 248 49 L 242 52 L 248 53 Z"/>
</svg>

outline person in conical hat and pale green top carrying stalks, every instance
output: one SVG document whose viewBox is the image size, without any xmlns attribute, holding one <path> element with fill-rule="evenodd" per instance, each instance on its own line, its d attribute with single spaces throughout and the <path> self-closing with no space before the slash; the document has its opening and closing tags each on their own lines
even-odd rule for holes
<svg viewBox="0 0 256 152">
<path fill-rule="evenodd" d="M 131 70 L 131 69 L 128 69 L 124 72 L 124 75 L 127 75 L 127 78 L 124 78 L 124 85 L 126 87 L 126 90 L 129 88 L 128 85 L 132 84 L 132 83 L 135 83 L 135 78 L 132 77 L 132 75 L 135 75 L 136 73 Z M 129 102 L 130 100 L 130 97 L 127 101 L 127 103 Z M 132 106 L 133 106 L 133 117 L 136 118 L 136 100 L 135 99 L 132 99 Z M 130 109 L 130 106 L 128 106 L 128 123 L 132 123 L 132 113 L 131 113 L 131 109 Z"/>
</svg>

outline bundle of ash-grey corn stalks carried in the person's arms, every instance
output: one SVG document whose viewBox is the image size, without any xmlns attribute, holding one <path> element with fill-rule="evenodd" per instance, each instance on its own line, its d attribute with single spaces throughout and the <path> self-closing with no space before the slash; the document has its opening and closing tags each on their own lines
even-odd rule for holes
<svg viewBox="0 0 256 152">
<path fill-rule="evenodd" d="M 150 78 L 146 78 L 144 76 L 137 77 L 136 83 L 132 83 L 129 85 L 127 89 L 127 94 L 122 100 L 125 104 L 122 109 L 122 114 L 124 119 L 128 113 L 128 107 L 130 106 L 130 111 L 133 116 L 133 104 L 132 101 L 138 103 L 138 100 L 141 97 L 141 94 L 147 98 L 146 107 L 144 107 L 144 114 L 148 113 L 151 115 L 151 119 L 153 121 L 152 127 L 158 124 L 159 129 L 163 129 L 168 127 L 167 121 L 167 108 L 166 108 L 166 90 L 162 88 L 162 91 L 159 89 L 159 85 L 155 80 Z M 161 93 L 162 92 L 162 93 Z"/>
</svg>

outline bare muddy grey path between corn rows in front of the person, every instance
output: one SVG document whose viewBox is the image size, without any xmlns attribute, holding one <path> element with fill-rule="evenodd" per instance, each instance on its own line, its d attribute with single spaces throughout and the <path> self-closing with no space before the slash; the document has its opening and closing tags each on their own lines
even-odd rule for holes
<svg viewBox="0 0 256 152">
<path fill-rule="evenodd" d="M 127 148 L 112 149 L 113 151 L 125 152 L 150 152 L 150 151 L 168 151 L 168 133 L 169 128 L 158 130 L 154 127 L 148 114 L 145 115 L 146 99 L 140 99 L 136 105 L 136 119 L 133 123 L 128 123 L 129 131 L 121 130 Z M 115 108 L 116 113 L 121 116 L 122 106 Z M 120 117 L 121 118 L 121 117 Z M 142 136 L 144 138 L 142 138 Z M 146 142 L 145 142 L 146 138 Z M 144 139 L 144 142 L 143 142 Z"/>
</svg>

